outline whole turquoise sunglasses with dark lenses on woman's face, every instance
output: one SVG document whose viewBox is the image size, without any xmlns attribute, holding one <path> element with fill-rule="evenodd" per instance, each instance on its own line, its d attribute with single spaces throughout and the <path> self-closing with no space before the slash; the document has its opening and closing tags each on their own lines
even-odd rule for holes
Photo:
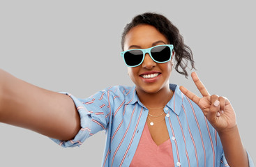
<svg viewBox="0 0 256 167">
<path fill-rule="evenodd" d="M 157 45 L 147 49 L 130 49 L 122 51 L 121 56 L 128 67 L 137 67 L 144 61 L 145 54 L 149 54 L 156 63 L 166 63 L 172 58 L 173 45 Z"/>
</svg>

